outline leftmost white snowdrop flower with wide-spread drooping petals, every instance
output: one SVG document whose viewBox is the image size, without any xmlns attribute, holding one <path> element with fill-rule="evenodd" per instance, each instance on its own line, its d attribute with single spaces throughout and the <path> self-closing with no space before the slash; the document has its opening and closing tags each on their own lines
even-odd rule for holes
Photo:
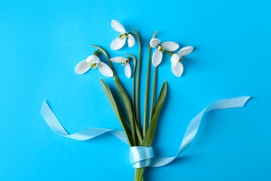
<svg viewBox="0 0 271 181">
<path fill-rule="evenodd" d="M 106 65 L 106 63 L 101 62 L 99 57 L 96 55 L 88 56 L 88 58 L 78 63 L 76 65 L 75 72 L 76 74 L 84 74 L 85 72 L 88 72 L 90 68 L 98 68 L 101 74 L 104 76 L 113 77 L 113 71 L 111 68 Z"/>
</svg>

